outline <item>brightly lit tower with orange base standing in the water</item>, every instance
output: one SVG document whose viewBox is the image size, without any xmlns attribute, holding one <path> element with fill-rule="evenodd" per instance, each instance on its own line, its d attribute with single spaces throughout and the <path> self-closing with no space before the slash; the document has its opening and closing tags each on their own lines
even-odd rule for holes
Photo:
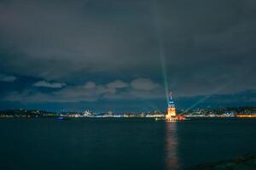
<svg viewBox="0 0 256 170">
<path fill-rule="evenodd" d="M 172 92 L 169 94 L 168 108 L 166 113 L 166 121 L 184 121 L 185 116 L 177 115 L 174 101 L 172 99 Z"/>
</svg>

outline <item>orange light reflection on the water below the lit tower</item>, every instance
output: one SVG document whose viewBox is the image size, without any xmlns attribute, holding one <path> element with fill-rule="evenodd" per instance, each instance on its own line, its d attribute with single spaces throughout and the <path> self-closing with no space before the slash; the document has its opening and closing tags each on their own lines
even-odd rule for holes
<svg viewBox="0 0 256 170">
<path fill-rule="evenodd" d="M 166 122 L 166 169 L 178 169 L 177 122 Z"/>
</svg>

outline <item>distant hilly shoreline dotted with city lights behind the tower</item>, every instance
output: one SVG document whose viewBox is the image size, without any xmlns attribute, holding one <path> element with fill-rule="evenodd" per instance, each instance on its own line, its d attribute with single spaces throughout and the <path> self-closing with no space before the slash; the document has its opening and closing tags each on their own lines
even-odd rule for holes
<svg viewBox="0 0 256 170">
<path fill-rule="evenodd" d="M 218 108 L 201 110 L 180 110 L 176 112 L 179 116 L 195 119 L 201 118 L 256 118 L 256 107 L 236 107 L 236 108 Z M 134 111 L 134 112 L 94 112 L 94 111 L 41 111 L 41 110 L 0 110 L 0 118 L 37 118 L 37 117 L 58 117 L 65 116 L 70 118 L 110 118 L 110 117 L 137 117 L 137 118 L 165 118 L 166 111 Z"/>
</svg>

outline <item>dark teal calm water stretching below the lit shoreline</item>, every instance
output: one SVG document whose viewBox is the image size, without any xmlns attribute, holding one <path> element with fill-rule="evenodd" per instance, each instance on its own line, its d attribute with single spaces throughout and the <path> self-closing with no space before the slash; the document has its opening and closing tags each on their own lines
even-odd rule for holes
<svg viewBox="0 0 256 170">
<path fill-rule="evenodd" d="M 256 152 L 256 120 L 0 119 L 0 169 L 183 169 Z"/>
</svg>

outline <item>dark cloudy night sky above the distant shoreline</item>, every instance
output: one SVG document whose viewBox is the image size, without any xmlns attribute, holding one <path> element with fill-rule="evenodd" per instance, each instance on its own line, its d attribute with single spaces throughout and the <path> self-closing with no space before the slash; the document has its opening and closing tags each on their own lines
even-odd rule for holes
<svg viewBox="0 0 256 170">
<path fill-rule="evenodd" d="M 255 104 L 255 44 L 255 0 L 0 0 L 0 109 Z"/>
</svg>

